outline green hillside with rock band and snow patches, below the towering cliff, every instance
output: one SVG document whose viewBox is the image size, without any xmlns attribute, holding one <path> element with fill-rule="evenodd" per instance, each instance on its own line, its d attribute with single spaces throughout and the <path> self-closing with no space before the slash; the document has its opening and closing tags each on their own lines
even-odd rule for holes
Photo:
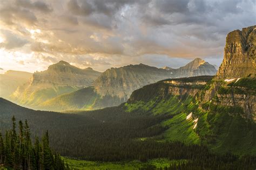
<svg viewBox="0 0 256 170">
<path fill-rule="evenodd" d="M 244 81 L 239 80 L 235 87 L 223 82 L 218 88 L 243 88 L 239 84 Z M 256 83 L 255 79 L 250 81 Z M 128 112 L 143 112 L 145 115 L 173 115 L 173 118 L 161 123 L 168 128 L 161 134 L 163 139 L 179 140 L 187 144 L 204 143 L 216 152 L 256 153 L 255 110 L 246 112 L 244 109 L 247 106 L 232 105 L 230 100 L 226 100 L 230 104 L 224 103 L 221 90 L 215 93 L 214 98 L 205 101 L 205 92 L 214 87 L 215 83 L 210 77 L 160 81 L 134 91 L 125 109 Z M 254 91 L 254 95 L 251 91 Z M 244 89 L 242 93 L 246 97 L 234 100 L 253 107 L 255 92 L 255 88 Z M 249 98 L 254 98 L 254 101 Z"/>
</svg>

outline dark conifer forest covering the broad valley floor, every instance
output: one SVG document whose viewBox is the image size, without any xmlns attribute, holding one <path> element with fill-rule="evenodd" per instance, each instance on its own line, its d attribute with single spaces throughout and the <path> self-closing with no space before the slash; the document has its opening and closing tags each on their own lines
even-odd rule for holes
<svg viewBox="0 0 256 170">
<path fill-rule="evenodd" d="M 41 152 L 45 144 L 64 157 L 91 161 L 145 162 L 154 158 L 187 160 L 186 164 L 170 165 L 167 169 L 253 169 L 256 166 L 256 157 L 253 155 L 213 153 L 204 144 L 185 145 L 179 141 L 165 141 L 160 135 L 165 129 L 159 122 L 170 119 L 171 115 L 145 116 L 139 112 L 125 112 L 122 106 L 78 114 L 58 114 L 18 107 L 8 101 L 1 103 L 1 115 L 6 116 L 1 119 L 1 125 L 5 124 L 1 129 L 8 129 L 7 118 L 14 113 L 17 118 L 28 118 L 32 122 L 32 134 L 48 130 L 42 134 Z M 9 116 L 6 114 L 8 111 Z M 10 136 L 12 131 L 7 131 L 5 136 Z M 19 146 L 18 139 L 19 137 L 17 140 L 15 138 L 16 146 Z M 31 137 L 32 139 L 38 140 Z M 35 145 L 31 148 L 35 150 L 37 147 Z M 51 158 L 51 162 L 55 162 L 59 157 L 55 155 Z M 25 157 L 24 160 L 28 162 L 28 158 Z M 37 163 L 36 166 L 38 165 Z M 24 166 L 28 166 L 28 163 Z M 150 168 L 153 167 L 147 167 Z"/>
</svg>

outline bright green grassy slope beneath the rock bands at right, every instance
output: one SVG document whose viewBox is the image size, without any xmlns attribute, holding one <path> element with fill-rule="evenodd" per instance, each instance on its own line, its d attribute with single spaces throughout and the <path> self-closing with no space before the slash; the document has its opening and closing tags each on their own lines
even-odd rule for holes
<svg viewBox="0 0 256 170">
<path fill-rule="evenodd" d="M 249 80 L 241 79 L 235 84 L 246 84 Z M 254 80 L 255 82 L 255 80 Z M 250 80 L 250 84 L 252 80 Z M 151 86 L 151 87 L 150 87 Z M 179 140 L 186 144 L 206 144 L 216 152 L 233 152 L 236 154 L 256 153 L 256 124 L 240 116 L 240 108 L 221 107 L 207 102 L 207 108 L 199 107 L 199 101 L 192 96 L 159 96 L 151 94 L 152 89 L 164 91 L 164 84 L 154 84 L 137 91 L 138 95 L 147 100 L 135 100 L 125 104 L 128 112 L 136 111 L 144 114 L 174 115 L 161 125 L 168 129 L 161 134 L 160 140 Z M 208 86 L 208 85 L 207 85 Z M 244 85 L 248 87 L 247 85 Z M 250 85 L 251 87 L 251 85 Z M 152 89 L 151 89 L 152 88 Z M 161 89 L 162 88 L 162 89 Z M 156 90 L 155 90 L 156 91 Z M 144 96 L 149 94 L 149 96 Z M 193 119 L 186 116 L 193 112 Z M 193 129 L 193 120 L 198 119 L 197 128 Z"/>
</svg>

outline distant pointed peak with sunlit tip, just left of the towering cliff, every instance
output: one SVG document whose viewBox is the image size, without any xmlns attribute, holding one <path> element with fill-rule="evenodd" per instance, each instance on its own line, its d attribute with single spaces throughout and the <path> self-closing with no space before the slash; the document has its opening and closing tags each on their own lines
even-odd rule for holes
<svg viewBox="0 0 256 170">
<path fill-rule="evenodd" d="M 196 58 L 187 65 L 173 69 L 170 67 L 164 67 L 166 70 L 172 72 L 172 77 L 191 77 L 191 76 L 200 76 L 200 75 L 215 75 L 217 69 L 208 62 L 200 58 Z"/>
</svg>

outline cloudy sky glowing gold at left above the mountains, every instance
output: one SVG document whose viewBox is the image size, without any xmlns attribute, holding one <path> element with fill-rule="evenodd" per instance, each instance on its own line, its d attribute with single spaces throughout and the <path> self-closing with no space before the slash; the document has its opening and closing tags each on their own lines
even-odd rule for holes
<svg viewBox="0 0 256 170">
<path fill-rule="evenodd" d="M 256 24 L 255 0 L 1 0 L 0 73 L 59 60 L 103 72 L 223 60 L 228 32 Z"/>
</svg>

